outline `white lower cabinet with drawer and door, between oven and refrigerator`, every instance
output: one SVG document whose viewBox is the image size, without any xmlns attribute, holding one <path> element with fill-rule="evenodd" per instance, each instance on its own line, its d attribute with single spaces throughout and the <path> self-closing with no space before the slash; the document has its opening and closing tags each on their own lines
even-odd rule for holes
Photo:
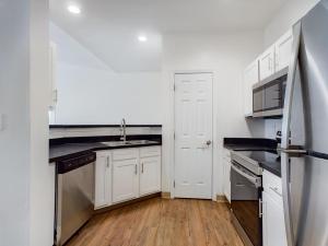
<svg viewBox="0 0 328 246">
<path fill-rule="evenodd" d="M 280 192 L 278 191 L 280 189 L 280 184 L 277 184 L 277 180 L 279 180 L 278 176 L 274 176 L 273 174 L 270 174 L 268 172 L 263 173 L 263 246 L 288 246 L 283 203 Z"/>
</svg>

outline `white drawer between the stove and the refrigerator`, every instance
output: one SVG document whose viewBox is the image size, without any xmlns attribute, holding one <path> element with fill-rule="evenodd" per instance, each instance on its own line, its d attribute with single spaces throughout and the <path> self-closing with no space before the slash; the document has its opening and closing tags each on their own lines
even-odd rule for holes
<svg viewBox="0 0 328 246">
<path fill-rule="evenodd" d="M 282 203 L 282 183 L 281 178 L 263 171 L 262 174 L 263 190 L 271 196 L 277 202 Z"/>
</svg>

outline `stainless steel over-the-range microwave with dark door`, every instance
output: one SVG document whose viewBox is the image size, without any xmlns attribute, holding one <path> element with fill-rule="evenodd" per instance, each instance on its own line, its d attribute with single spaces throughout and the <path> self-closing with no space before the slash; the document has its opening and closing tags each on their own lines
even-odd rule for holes
<svg viewBox="0 0 328 246">
<path fill-rule="evenodd" d="M 281 117 L 288 68 L 253 86 L 253 117 Z"/>
</svg>

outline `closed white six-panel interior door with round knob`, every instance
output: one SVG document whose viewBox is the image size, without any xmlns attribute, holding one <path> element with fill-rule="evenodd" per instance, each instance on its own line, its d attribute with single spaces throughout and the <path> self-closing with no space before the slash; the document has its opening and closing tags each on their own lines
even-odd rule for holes
<svg viewBox="0 0 328 246">
<path fill-rule="evenodd" d="M 212 73 L 175 74 L 175 197 L 211 199 Z"/>
</svg>

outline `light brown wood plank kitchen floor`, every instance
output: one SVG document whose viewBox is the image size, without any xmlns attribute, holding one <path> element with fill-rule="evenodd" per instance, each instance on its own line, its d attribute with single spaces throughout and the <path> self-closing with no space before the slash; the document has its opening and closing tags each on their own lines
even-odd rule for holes
<svg viewBox="0 0 328 246">
<path fill-rule="evenodd" d="M 94 216 L 68 246 L 244 246 L 224 203 L 154 198 Z"/>
</svg>

